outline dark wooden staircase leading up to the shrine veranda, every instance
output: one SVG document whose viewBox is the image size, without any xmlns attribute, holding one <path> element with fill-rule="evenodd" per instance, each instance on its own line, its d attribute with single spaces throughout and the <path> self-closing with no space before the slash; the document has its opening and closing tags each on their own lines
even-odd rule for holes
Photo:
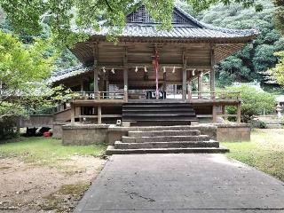
<svg viewBox="0 0 284 213">
<path fill-rule="evenodd" d="M 189 103 L 153 102 L 126 103 L 122 106 L 122 122 L 146 125 L 189 125 L 198 122 L 195 111 Z"/>
</svg>

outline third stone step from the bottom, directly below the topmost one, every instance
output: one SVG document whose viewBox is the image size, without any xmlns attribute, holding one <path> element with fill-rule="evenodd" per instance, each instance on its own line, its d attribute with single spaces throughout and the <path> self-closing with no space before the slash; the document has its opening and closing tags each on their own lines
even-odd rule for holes
<svg viewBox="0 0 284 213">
<path fill-rule="evenodd" d="M 170 142 L 170 141 L 207 141 L 209 136 L 155 136 L 155 137 L 127 137 L 122 136 L 123 143 L 144 143 L 144 142 Z"/>
</svg>

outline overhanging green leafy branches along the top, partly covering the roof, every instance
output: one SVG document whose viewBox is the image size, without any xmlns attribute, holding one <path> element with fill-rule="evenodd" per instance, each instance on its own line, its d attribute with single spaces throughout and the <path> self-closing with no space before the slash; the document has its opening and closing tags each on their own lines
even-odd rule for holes
<svg viewBox="0 0 284 213">
<path fill-rule="evenodd" d="M 255 6 L 256 11 L 262 5 L 255 0 L 187 0 L 193 10 L 200 12 L 212 4 L 238 3 L 244 7 Z M 86 29 L 99 30 L 100 27 L 111 27 L 108 37 L 122 31 L 125 16 L 133 12 L 141 4 L 157 22 L 160 28 L 171 28 L 171 12 L 175 0 L 0 0 L 7 20 L 17 33 L 37 35 L 43 31 L 43 23 L 51 28 L 54 41 L 60 46 L 71 46 L 88 38 Z"/>
</svg>

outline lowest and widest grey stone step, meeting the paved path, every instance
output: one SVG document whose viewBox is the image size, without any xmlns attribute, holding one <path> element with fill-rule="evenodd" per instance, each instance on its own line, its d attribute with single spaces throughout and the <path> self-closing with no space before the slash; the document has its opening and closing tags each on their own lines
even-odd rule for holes
<svg viewBox="0 0 284 213">
<path fill-rule="evenodd" d="M 216 154 L 226 153 L 229 149 L 225 147 L 193 147 L 193 148 L 149 148 L 149 149 L 114 149 L 114 146 L 107 146 L 106 154 Z"/>
</svg>

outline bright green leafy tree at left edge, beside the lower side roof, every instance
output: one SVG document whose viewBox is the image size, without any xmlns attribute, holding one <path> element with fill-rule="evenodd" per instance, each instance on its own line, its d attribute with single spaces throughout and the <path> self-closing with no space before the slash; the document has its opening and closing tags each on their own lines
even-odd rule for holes
<svg viewBox="0 0 284 213">
<path fill-rule="evenodd" d="M 25 114 L 26 108 L 50 107 L 71 98 L 69 90 L 46 83 L 56 56 L 50 57 L 51 51 L 48 40 L 23 44 L 0 31 L 0 122 Z"/>
</svg>

